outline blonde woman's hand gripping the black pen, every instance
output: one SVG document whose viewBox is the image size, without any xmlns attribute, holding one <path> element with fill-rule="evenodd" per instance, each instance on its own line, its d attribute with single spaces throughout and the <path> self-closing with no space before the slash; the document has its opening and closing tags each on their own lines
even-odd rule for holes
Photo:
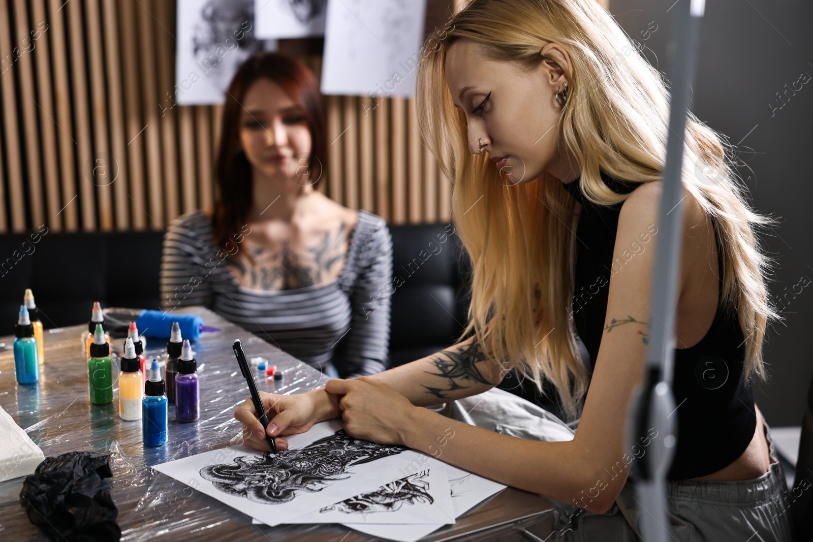
<svg viewBox="0 0 813 542">
<path fill-rule="evenodd" d="M 298 395 L 259 392 L 259 396 L 268 417 L 267 432 L 275 437 L 277 451 L 288 449 L 288 440 L 283 436 L 304 433 L 314 423 L 339 417 L 338 397 L 332 396 L 324 388 Z M 246 446 L 263 452 L 270 451 L 263 424 L 257 418 L 250 398 L 237 407 L 234 417 L 243 424 L 243 442 Z"/>
</svg>

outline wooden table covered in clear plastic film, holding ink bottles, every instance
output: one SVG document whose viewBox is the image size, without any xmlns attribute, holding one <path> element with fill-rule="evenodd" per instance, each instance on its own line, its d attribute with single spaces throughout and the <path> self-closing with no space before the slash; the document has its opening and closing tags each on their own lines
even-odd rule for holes
<svg viewBox="0 0 813 542">
<path fill-rule="evenodd" d="M 198 423 L 176 423 L 170 405 L 166 445 L 145 446 L 141 442 L 141 420 L 125 422 L 119 418 L 115 362 L 113 402 L 90 404 L 85 342 L 80 341 L 82 332 L 87 332 L 85 324 L 46 330 L 45 365 L 41 367 L 39 384 L 16 383 L 13 337 L 0 337 L 0 405 L 46 457 L 73 450 L 111 454 L 113 477 L 107 482 L 119 509 L 122 540 L 376 540 L 342 525 L 252 525 L 245 514 L 150 468 L 241 442 L 241 424 L 233 412 L 249 392 L 231 348 L 234 339 L 242 341 L 246 357 L 262 356 L 283 371 L 281 382 L 263 379 L 258 385 L 261 391 L 301 393 L 327 379 L 320 371 L 210 310 L 187 307 L 176 311 L 199 314 L 207 325 L 220 331 L 203 333 L 193 344 L 201 389 Z M 121 353 L 124 339 L 112 342 L 112 349 Z M 165 348 L 166 343 L 148 340 L 148 362 Z M 20 505 L 22 485 L 21 478 L 0 483 L 0 532 L 4 538 L 13 535 L 15 540 L 46 540 Z M 550 533 L 552 509 L 550 501 L 541 496 L 506 488 L 463 515 L 455 525 L 443 527 L 423 540 L 507 540 L 506 535 L 517 540 L 515 533 L 526 527 Z"/>
</svg>

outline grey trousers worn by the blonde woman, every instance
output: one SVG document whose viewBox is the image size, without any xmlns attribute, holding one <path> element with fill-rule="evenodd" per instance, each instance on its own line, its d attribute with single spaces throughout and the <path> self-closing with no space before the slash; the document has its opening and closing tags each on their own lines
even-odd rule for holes
<svg viewBox="0 0 813 542">
<path fill-rule="evenodd" d="M 450 418 L 491 431 L 533 440 L 570 440 L 576 423 L 563 423 L 550 412 L 494 388 L 438 407 Z M 761 413 L 760 413 L 761 415 Z M 771 466 L 746 480 L 667 480 L 667 540 L 677 542 L 767 542 L 791 540 L 791 518 L 783 496 L 785 473 L 763 418 Z M 641 510 L 632 475 L 605 514 L 551 499 L 554 533 L 560 542 L 640 542 Z"/>
</svg>

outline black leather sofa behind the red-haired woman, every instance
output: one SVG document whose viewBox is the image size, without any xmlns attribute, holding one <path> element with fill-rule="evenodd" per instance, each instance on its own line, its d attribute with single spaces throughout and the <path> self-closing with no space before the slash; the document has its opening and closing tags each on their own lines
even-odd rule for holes
<svg viewBox="0 0 813 542">
<path fill-rule="evenodd" d="M 451 224 L 389 228 L 394 287 L 389 355 L 390 365 L 398 366 L 454 344 L 466 323 L 470 267 Z M 14 332 L 25 288 L 32 288 L 46 329 L 87 322 L 93 301 L 159 309 L 162 242 L 161 231 L 0 236 L 0 335 Z M 521 380 L 509 375 L 500 387 L 560 414 L 554 401 Z"/>
</svg>

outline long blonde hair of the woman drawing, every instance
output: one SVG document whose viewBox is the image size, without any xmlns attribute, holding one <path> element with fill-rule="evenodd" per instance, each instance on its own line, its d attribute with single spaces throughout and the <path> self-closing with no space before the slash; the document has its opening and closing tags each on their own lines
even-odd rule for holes
<svg viewBox="0 0 813 542">
<path fill-rule="evenodd" d="M 628 196 L 608 189 L 599 171 L 633 183 L 661 179 L 667 85 L 596 0 L 474 0 L 424 44 L 420 130 L 453 180 L 452 215 L 472 260 L 463 336 L 473 333 L 493 362 L 512 360 L 538 387 L 550 380 L 565 413 L 576 417 L 587 390 L 572 319 L 572 232 L 580 204 L 547 172 L 535 182 L 506 186 L 487 154 L 470 154 L 465 115 L 454 107 L 444 72 L 446 52 L 459 38 L 479 43 L 489 59 L 526 70 L 541 63 L 540 51 L 550 42 L 567 50 L 572 72 L 560 63 L 568 80 L 561 146 L 580 164 L 585 196 L 599 205 Z M 772 262 L 754 228 L 776 221 L 750 210 L 746 187 L 725 154 L 732 149 L 728 140 L 692 113 L 686 130 L 683 184 L 714 220 L 724 284 L 719 310 L 738 310 L 746 379 L 764 379 L 765 329 L 769 319 L 781 317 L 763 280 Z"/>
</svg>

